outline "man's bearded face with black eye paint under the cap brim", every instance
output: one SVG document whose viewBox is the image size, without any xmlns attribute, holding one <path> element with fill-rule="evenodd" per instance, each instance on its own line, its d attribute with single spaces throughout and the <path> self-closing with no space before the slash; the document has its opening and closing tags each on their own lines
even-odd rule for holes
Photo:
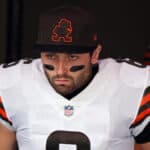
<svg viewBox="0 0 150 150">
<path fill-rule="evenodd" d="M 85 85 L 92 75 L 93 61 L 89 53 L 42 52 L 41 59 L 49 82 L 64 96 Z"/>
</svg>

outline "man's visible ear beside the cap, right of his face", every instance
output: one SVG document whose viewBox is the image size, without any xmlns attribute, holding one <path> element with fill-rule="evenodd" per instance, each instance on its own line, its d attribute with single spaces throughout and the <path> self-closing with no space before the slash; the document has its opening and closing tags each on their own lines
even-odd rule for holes
<svg viewBox="0 0 150 150">
<path fill-rule="evenodd" d="M 91 57 L 91 63 L 92 64 L 96 64 L 97 63 L 101 50 L 102 50 L 102 45 L 100 45 L 100 44 L 97 45 L 97 47 L 93 51 L 93 54 L 92 54 L 92 57 Z"/>
</svg>

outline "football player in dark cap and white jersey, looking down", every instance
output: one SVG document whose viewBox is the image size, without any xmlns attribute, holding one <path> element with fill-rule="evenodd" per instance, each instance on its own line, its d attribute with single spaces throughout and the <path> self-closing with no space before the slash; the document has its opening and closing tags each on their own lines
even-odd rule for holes
<svg viewBox="0 0 150 150">
<path fill-rule="evenodd" d="M 150 150 L 148 67 L 100 59 L 94 17 L 59 7 L 40 17 L 39 59 L 0 67 L 0 149 Z"/>
</svg>

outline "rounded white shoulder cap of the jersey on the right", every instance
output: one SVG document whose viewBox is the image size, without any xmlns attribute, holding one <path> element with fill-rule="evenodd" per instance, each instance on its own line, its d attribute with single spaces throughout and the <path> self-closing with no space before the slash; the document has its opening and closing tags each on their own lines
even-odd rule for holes
<svg viewBox="0 0 150 150">
<path fill-rule="evenodd" d="M 121 81 L 131 87 L 144 87 L 148 77 L 148 68 L 138 62 L 131 62 L 128 60 L 119 62 Z"/>
</svg>

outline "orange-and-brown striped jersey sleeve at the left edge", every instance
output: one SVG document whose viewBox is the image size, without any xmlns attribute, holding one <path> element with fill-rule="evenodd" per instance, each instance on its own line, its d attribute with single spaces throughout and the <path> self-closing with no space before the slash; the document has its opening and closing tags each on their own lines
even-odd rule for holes
<svg viewBox="0 0 150 150">
<path fill-rule="evenodd" d="M 9 129 L 13 129 L 12 128 L 12 122 L 8 118 L 8 115 L 7 115 L 6 110 L 4 108 L 1 96 L 0 96 L 0 122 L 3 123 L 5 126 L 7 126 Z"/>
</svg>

